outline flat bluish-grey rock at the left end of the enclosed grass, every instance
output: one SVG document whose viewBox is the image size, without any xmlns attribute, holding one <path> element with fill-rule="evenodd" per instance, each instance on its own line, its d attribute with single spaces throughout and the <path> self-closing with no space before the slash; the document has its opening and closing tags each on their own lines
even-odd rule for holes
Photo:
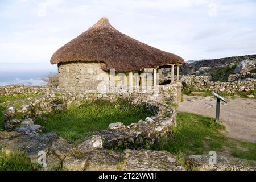
<svg viewBox="0 0 256 182">
<path fill-rule="evenodd" d="M 40 125 L 21 125 L 16 127 L 13 131 L 17 131 L 23 135 L 38 134 L 45 131 L 45 129 Z"/>
</svg>

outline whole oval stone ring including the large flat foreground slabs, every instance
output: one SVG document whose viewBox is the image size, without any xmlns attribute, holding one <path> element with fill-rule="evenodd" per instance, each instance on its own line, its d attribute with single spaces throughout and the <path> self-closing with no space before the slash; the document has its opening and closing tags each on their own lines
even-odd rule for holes
<svg viewBox="0 0 256 182">
<path fill-rule="evenodd" d="M 170 85 L 171 88 L 171 85 Z M 168 88 L 163 87 L 163 90 Z M 168 94 L 167 96 L 169 96 Z M 92 137 L 86 137 L 81 144 L 71 146 L 55 133 L 42 134 L 45 129 L 35 125 L 35 115 L 56 110 L 65 110 L 69 105 L 79 105 L 81 101 L 118 98 L 130 100 L 133 104 L 144 105 L 153 115 L 134 121 L 129 126 L 120 122 L 111 123 L 105 130 L 97 131 Z M 152 99 L 152 100 L 150 100 Z M 117 152 L 104 148 L 129 147 L 141 148 L 159 142 L 163 135 L 171 134 L 176 123 L 174 107 L 153 102 L 154 97 L 145 94 L 74 94 L 71 92 L 30 97 L 25 100 L 3 103 L 4 126 L 7 131 L 0 132 L 0 149 L 6 154 L 12 151 L 26 151 L 31 163 L 43 164 L 44 169 L 64 170 L 184 170 L 174 155 L 166 151 L 125 150 Z M 27 147 L 27 146 L 30 147 Z M 94 155 L 97 154 L 97 155 Z M 42 155 L 46 157 L 42 163 Z M 132 156 L 131 156 L 132 155 Z M 141 165 L 138 162 L 147 162 Z M 153 162 L 154 161 L 154 162 Z M 154 164 L 153 164 L 154 163 Z"/>
</svg>

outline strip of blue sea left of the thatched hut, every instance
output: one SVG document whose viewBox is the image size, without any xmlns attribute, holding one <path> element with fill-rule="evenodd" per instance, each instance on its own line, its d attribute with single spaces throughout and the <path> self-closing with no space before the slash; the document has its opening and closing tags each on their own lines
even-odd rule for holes
<svg viewBox="0 0 256 182">
<path fill-rule="evenodd" d="M 11 84 L 42 86 L 45 82 L 42 78 L 49 71 L 0 71 L 0 86 Z"/>
</svg>

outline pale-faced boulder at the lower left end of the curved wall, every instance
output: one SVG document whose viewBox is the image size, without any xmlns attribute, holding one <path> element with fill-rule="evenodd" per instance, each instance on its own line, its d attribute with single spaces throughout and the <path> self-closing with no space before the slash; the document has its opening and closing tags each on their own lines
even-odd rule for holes
<svg viewBox="0 0 256 182">
<path fill-rule="evenodd" d="M 93 135 L 92 137 L 86 137 L 84 142 L 82 142 L 78 147 L 77 150 L 82 153 L 89 153 L 97 148 L 102 148 L 102 139 L 100 135 Z"/>
</svg>

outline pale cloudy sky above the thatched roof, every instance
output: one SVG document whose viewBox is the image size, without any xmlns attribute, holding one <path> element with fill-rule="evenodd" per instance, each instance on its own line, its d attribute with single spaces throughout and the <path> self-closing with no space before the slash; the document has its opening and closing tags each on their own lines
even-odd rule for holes
<svg viewBox="0 0 256 182">
<path fill-rule="evenodd" d="M 185 60 L 256 53 L 255 0 L 1 0 L 0 72 L 56 70 L 52 54 L 103 16 Z"/>
</svg>

